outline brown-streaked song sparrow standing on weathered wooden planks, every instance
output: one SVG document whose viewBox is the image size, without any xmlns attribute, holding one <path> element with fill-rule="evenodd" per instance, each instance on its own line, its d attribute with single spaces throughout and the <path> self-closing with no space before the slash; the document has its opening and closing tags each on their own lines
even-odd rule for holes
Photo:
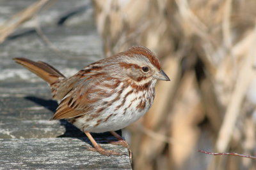
<svg viewBox="0 0 256 170">
<path fill-rule="evenodd" d="M 94 62 L 70 78 L 42 61 L 14 60 L 51 86 L 52 99 L 60 101 L 51 120 L 67 119 L 88 136 L 94 146 L 90 150 L 103 155 L 120 153 L 101 148 L 90 132 L 110 131 L 128 148 L 115 131 L 148 111 L 157 80 L 170 81 L 156 55 L 144 46 Z"/>
</svg>

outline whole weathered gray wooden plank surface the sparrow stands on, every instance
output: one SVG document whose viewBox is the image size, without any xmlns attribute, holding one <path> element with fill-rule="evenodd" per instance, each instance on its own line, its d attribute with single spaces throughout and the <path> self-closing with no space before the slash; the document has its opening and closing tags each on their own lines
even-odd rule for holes
<svg viewBox="0 0 256 170">
<path fill-rule="evenodd" d="M 0 1 L 0 23 L 33 3 Z M 33 27 L 38 23 L 49 42 Z M 82 147 L 90 146 L 83 132 L 65 120 L 49 121 L 58 105 L 50 88 L 14 57 L 43 60 L 66 76 L 102 59 L 90 1 L 56 1 L 0 45 L 0 169 L 131 169 L 127 149 L 106 144 L 115 139 L 109 133 L 93 136 L 124 155 L 90 152 Z"/>
</svg>

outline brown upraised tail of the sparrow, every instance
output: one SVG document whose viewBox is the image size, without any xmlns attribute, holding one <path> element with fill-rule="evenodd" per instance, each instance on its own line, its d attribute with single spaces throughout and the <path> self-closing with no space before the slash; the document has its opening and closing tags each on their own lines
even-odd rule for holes
<svg viewBox="0 0 256 170">
<path fill-rule="evenodd" d="M 34 62 L 33 60 L 24 58 L 15 58 L 13 60 L 26 67 L 36 75 L 40 76 L 40 78 L 47 81 L 50 85 L 58 81 L 60 77 L 65 78 L 65 76 L 61 74 L 60 71 L 45 62 Z"/>
</svg>

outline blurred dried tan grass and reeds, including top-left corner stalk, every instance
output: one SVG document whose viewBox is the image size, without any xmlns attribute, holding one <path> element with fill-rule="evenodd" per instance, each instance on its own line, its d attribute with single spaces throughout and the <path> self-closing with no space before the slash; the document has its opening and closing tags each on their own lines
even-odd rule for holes
<svg viewBox="0 0 256 170">
<path fill-rule="evenodd" d="M 4 41 L 47 0 L 0 27 Z M 143 45 L 171 81 L 131 132 L 134 169 L 255 169 L 255 0 L 94 0 L 106 55 Z"/>
</svg>

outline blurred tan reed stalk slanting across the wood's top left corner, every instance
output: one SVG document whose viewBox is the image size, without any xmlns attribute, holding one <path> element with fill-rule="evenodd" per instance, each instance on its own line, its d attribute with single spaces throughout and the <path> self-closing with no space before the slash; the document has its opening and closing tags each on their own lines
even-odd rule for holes
<svg viewBox="0 0 256 170">
<path fill-rule="evenodd" d="M 0 25 L 0 43 L 12 34 L 20 25 L 24 24 L 31 18 L 35 17 L 42 7 L 48 3 L 49 0 L 40 0 L 34 4 L 31 4 L 28 8 L 23 11 L 20 11 L 14 15 L 10 20 L 6 21 L 4 24 Z"/>
</svg>

